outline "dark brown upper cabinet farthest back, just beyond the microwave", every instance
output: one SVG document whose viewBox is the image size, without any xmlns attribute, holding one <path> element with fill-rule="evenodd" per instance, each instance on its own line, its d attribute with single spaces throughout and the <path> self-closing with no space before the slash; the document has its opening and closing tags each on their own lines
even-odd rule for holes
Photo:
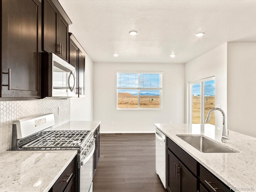
<svg viewBox="0 0 256 192">
<path fill-rule="evenodd" d="M 76 97 L 84 97 L 85 84 L 85 56 L 86 52 L 76 40 L 72 33 L 69 33 L 69 63 L 76 68 Z"/>
</svg>

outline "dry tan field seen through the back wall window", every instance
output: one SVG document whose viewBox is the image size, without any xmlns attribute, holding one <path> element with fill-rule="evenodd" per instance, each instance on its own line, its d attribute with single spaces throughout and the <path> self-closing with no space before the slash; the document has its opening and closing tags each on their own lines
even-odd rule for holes
<svg viewBox="0 0 256 192">
<path fill-rule="evenodd" d="M 138 96 L 118 93 L 118 108 L 138 108 Z M 140 108 L 160 108 L 159 96 L 140 96 Z"/>
</svg>

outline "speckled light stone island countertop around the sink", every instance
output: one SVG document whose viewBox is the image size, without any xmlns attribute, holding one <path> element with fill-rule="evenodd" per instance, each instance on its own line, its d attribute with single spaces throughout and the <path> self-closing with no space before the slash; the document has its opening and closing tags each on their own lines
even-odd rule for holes
<svg viewBox="0 0 256 192">
<path fill-rule="evenodd" d="M 232 190 L 256 191 L 256 138 L 229 131 L 230 140 L 222 143 L 222 128 L 210 124 L 154 125 Z M 202 153 L 176 136 L 177 134 L 202 134 L 239 153 Z"/>
</svg>

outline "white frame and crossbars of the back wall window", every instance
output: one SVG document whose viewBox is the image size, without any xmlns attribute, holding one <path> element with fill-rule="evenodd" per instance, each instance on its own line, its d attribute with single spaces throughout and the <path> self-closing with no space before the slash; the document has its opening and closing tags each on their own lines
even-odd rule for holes
<svg viewBox="0 0 256 192">
<path fill-rule="evenodd" d="M 118 87 L 118 73 L 134 73 L 138 74 L 138 87 Z M 162 88 L 163 88 L 163 74 L 164 72 L 124 72 L 124 71 L 117 71 L 116 72 L 116 109 L 117 110 L 162 110 Z M 140 88 L 140 74 L 160 74 L 160 88 Z M 118 108 L 118 90 L 138 90 L 138 108 Z M 140 108 L 140 90 L 160 90 L 159 95 L 159 107 L 160 108 Z"/>
</svg>

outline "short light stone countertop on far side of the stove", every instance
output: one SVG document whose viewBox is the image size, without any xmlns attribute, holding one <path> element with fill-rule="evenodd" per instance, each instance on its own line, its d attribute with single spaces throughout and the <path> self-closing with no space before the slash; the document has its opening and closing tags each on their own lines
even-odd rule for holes
<svg viewBox="0 0 256 192">
<path fill-rule="evenodd" d="M 94 132 L 99 125 L 100 121 L 69 121 L 53 130 L 86 130 Z"/>
</svg>

